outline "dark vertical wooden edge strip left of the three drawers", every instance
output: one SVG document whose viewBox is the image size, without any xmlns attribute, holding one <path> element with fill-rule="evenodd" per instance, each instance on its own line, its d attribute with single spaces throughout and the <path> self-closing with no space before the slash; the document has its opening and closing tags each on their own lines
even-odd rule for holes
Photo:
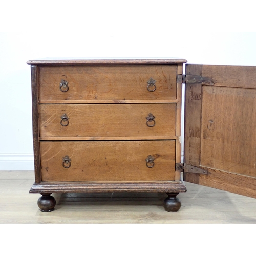
<svg viewBox="0 0 256 256">
<path fill-rule="evenodd" d="M 38 114 L 38 84 L 37 67 L 31 66 L 31 87 L 32 87 L 32 125 L 33 125 L 33 150 L 34 150 L 34 168 L 35 182 L 41 182 L 41 164 L 39 147 L 39 114 Z"/>
</svg>

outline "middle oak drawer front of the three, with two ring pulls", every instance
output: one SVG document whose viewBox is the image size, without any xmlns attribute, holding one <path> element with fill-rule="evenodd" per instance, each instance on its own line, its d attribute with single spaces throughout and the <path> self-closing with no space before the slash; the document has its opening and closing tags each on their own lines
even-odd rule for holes
<svg viewBox="0 0 256 256">
<path fill-rule="evenodd" d="M 150 115 L 150 113 L 152 115 Z M 94 140 L 176 135 L 176 104 L 39 105 L 40 139 Z M 105 138 L 107 137 L 107 138 Z M 170 138 L 172 139 L 172 138 Z"/>
</svg>

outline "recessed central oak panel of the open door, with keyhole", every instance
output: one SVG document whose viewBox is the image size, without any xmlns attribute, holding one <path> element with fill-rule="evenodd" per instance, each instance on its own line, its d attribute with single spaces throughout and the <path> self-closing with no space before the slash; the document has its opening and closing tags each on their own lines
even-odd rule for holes
<svg viewBox="0 0 256 256">
<path fill-rule="evenodd" d="M 203 86 L 201 166 L 256 177 L 256 90 Z"/>
</svg>

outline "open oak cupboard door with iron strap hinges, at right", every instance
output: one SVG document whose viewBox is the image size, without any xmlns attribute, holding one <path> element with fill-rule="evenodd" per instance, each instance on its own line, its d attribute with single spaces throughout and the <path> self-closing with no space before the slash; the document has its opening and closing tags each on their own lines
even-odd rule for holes
<svg viewBox="0 0 256 256">
<path fill-rule="evenodd" d="M 186 65 L 184 181 L 256 198 L 256 67 Z M 210 84 L 211 83 L 211 84 Z"/>
</svg>

